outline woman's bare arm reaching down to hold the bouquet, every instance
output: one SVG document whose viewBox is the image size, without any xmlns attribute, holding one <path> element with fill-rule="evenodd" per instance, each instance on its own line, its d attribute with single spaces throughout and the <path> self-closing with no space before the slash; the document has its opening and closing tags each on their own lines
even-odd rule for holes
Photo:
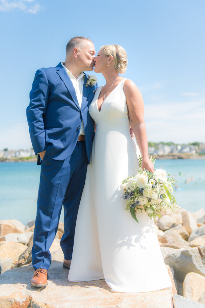
<svg viewBox="0 0 205 308">
<path fill-rule="evenodd" d="M 137 144 L 142 155 L 142 168 L 154 172 L 154 165 L 148 156 L 147 132 L 144 122 L 144 102 L 142 94 L 131 80 L 125 80 L 123 90 L 126 96 L 127 109 L 131 128 L 135 133 Z"/>
</svg>

